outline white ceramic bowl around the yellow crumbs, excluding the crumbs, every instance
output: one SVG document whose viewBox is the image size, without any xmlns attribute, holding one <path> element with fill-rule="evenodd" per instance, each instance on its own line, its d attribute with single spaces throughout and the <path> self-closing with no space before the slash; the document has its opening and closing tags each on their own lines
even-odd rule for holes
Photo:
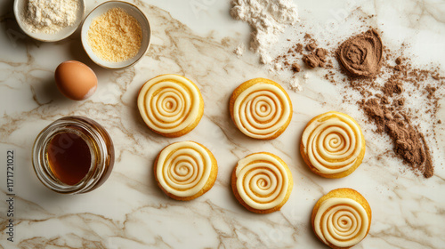
<svg viewBox="0 0 445 249">
<path fill-rule="evenodd" d="M 139 49 L 139 52 L 132 59 L 121 62 L 101 60 L 101 58 L 93 52 L 91 46 L 88 44 L 88 29 L 90 29 L 92 21 L 95 18 L 101 16 L 101 14 L 108 12 L 109 9 L 112 8 L 122 8 L 125 12 L 132 15 L 141 24 L 142 28 L 141 48 Z M 134 66 L 134 64 L 136 64 L 139 60 L 142 59 L 145 52 L 147 52 L 147 50 L 149 49 L 150 36 L 151 36 L 150 23 L 145 14 L 134 4 L 129 4 L 121 1 L 109 1 L 98 5 L 95 9 L 93 9 L 92 12 L 88 14 L 88 16 L 86 16 L 84 24 L 82 24 L 82 31 L 81 31 L 82 45 L 84 46 L 85 52 L 88 54 L 91 60 L 94 61 L 94 63 L 101 66 L 102 68 L 109 68 L 109 69 L 123 69 Z"/>
</svg>

